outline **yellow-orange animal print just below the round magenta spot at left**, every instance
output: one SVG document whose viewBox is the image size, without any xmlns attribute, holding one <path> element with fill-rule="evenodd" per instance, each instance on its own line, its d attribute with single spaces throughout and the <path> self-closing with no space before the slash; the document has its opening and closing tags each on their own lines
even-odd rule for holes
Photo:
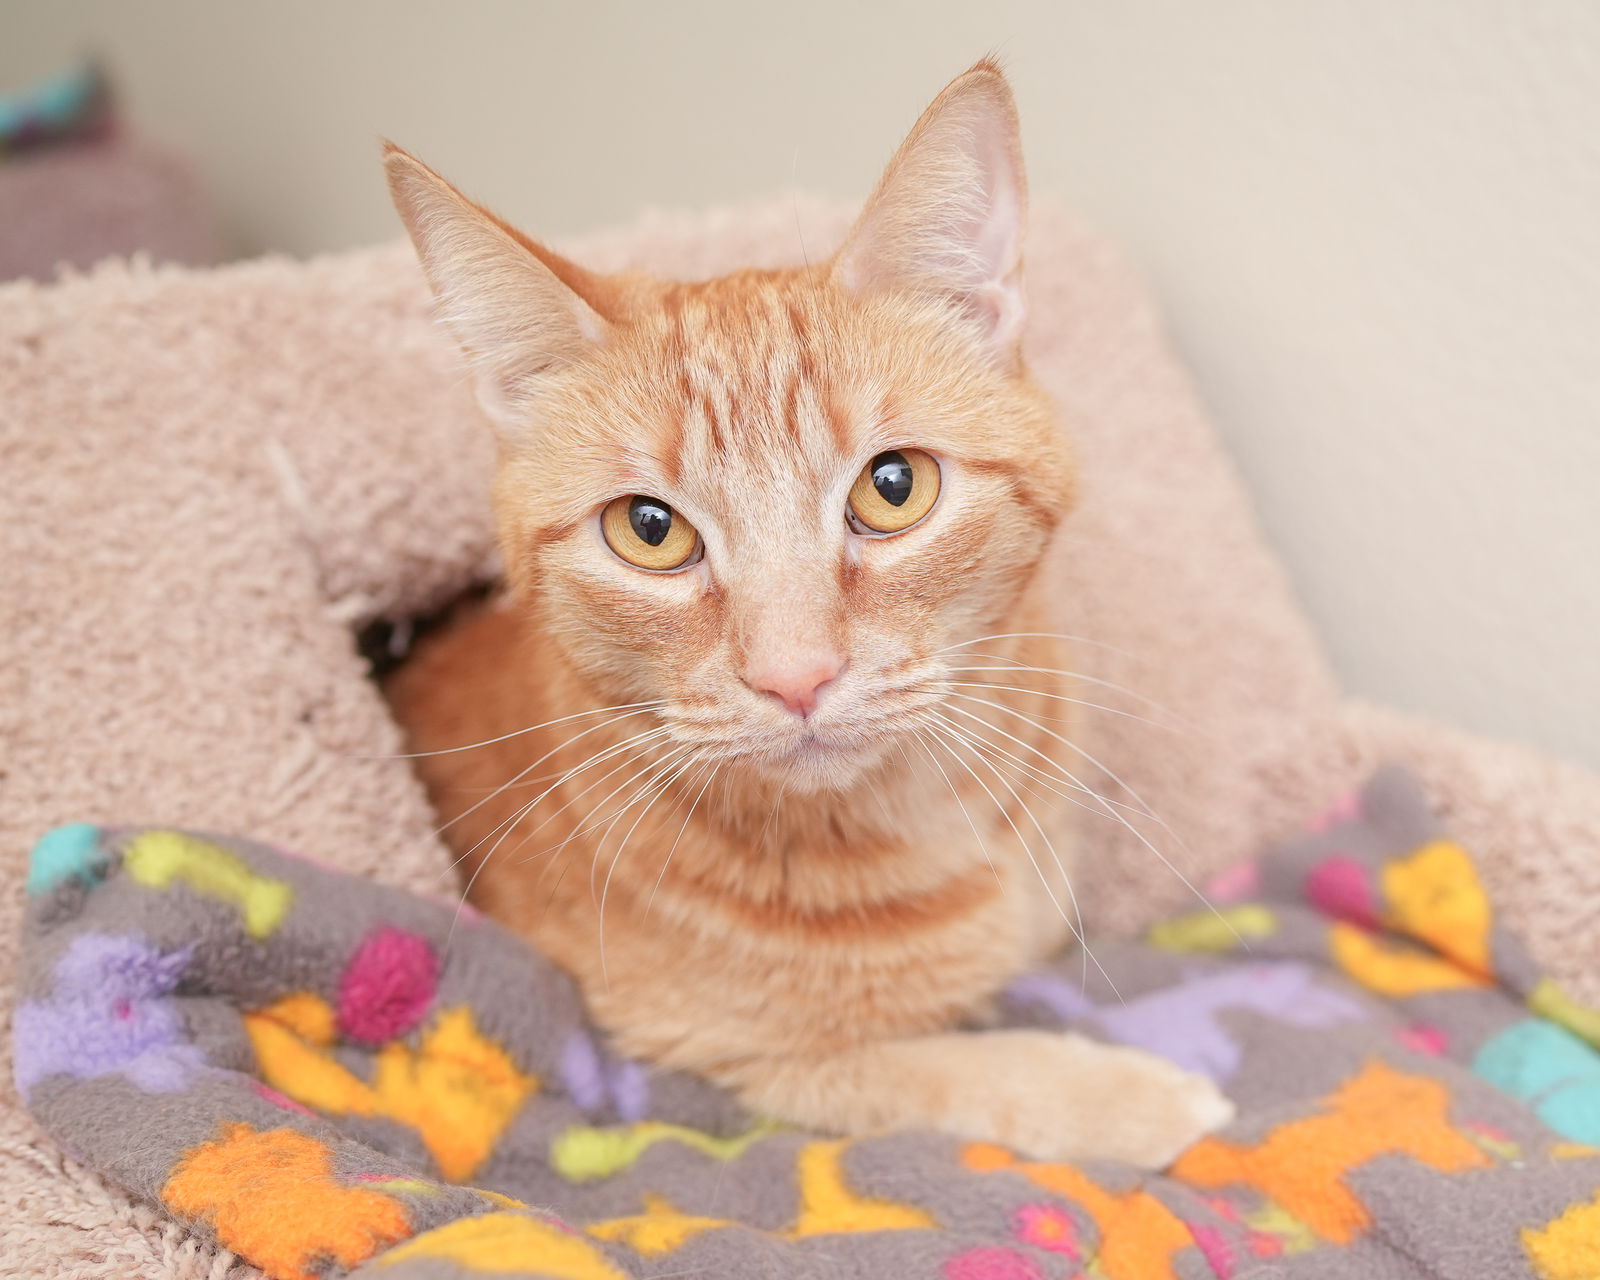
<svg viewBox="0 0 1600 1280">
<path fill-rule="evenodd" d="M 421 1048 L 384 1045 L 368 1083 L 328 1050 L 334 1018 L 322 997 L 286 995 L 245 1014 L 262 1078 L 312 1110 L 382 1115 L 421 1136 L 440 1173 L 470 1178 L 494 1150 L 538 1077 L 517 1070 L 510 1056 L 483 1037 L 472 1010 L 442 1011 Z"/>
</svg>

